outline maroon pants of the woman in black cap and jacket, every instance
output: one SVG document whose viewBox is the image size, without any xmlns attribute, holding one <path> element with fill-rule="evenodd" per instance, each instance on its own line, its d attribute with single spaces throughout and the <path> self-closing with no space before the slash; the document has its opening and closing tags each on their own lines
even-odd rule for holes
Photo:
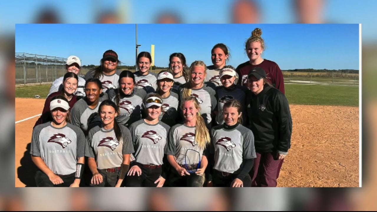
<svg viewBox="0 0 377 212">
<path fill-rule="evenodd" d="M 276 187 L 282 160 L 277 160 L 276 152 L 256 152 L 254 166 L 250 171 L 252 187 Z"/>
</svg>

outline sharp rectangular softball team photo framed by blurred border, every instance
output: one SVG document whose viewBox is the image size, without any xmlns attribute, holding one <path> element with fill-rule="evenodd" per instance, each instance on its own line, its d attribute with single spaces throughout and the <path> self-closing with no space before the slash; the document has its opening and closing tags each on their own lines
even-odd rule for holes
<svg viewBox="0 0 377 212">
<path fill-rule="evenodd" d="M 16 24 L 15 187 L 360 187 L 360 45 L 359 24 Z"/>
</svg>

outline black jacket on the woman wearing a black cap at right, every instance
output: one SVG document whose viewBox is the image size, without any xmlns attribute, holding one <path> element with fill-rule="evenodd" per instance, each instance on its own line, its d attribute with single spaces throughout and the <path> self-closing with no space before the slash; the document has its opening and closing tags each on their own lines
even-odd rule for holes
<svg viewBox="0 0 377 212">
<path fill-rule="evenodd" d="M 248 120 L 256 152 L 288 152 L 291 147 L 292 117 L 285 95 L 265 84 L 254 95 L 248 93 Z"/>
</svg>

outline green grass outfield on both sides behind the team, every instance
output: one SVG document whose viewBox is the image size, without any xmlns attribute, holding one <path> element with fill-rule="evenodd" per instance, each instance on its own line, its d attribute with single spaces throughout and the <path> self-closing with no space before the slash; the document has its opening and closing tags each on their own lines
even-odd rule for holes
<svg viewBox="0 0 377 212">
<path fill-rule="evenodd" d="M 16 97 L 46 98 L 50 85 L 16 88 Z M 285 95 L 290 104 L 359 106 L 358 86 L 327 86 L 314 84 L 286 84 Z"/>
</svg>

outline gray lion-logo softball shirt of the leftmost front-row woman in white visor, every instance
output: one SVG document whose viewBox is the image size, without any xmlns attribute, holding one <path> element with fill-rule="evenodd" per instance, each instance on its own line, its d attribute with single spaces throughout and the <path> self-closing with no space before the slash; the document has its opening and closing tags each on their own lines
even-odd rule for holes
<svg viewBox="0 0 377 212">
<path fill-rule="evenodd" d="M 84 150 L 83 131 L 70 123 L 55 128 L 51 122 L 46 122 L 33 129 L 30 154 L 41 157 L 55 174 L 76 172 L 77 158 L 84 157 Z"/>
</svg>

